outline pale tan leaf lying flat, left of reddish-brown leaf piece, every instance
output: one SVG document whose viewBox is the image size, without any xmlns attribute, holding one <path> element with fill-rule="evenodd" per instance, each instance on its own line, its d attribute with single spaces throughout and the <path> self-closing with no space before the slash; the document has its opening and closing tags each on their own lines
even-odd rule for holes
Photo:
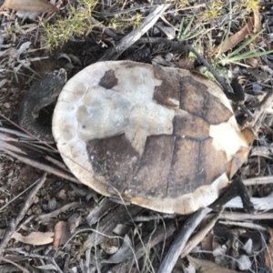
<svg viewBox="0 0 273 273">
<path fill-rule="evenodd" d="M 54 236 L 53 232 L 35 231 L 30 233 L 27 236 L 23 236 L 20 233 L 15 232 L 12 238 L 15 238 L 15 240 L 28 244 L 28 245 L 42 246 L 42 245 L 47 245 L 52 243 L 53 236 Z"/>
</svg>

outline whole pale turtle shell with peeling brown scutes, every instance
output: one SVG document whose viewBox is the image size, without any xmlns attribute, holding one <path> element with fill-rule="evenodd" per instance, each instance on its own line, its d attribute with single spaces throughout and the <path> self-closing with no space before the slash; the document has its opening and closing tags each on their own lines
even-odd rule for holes
<svg viewBox="0 0 273 273">
<path fill-rule="evenodd" d="M 184 69 L 87 66 L 64 86 L 53 135 L 66 166 L 98 193 L 165 213 L 207 207 L 248 157 L 221 88 Z"/>
</svg>

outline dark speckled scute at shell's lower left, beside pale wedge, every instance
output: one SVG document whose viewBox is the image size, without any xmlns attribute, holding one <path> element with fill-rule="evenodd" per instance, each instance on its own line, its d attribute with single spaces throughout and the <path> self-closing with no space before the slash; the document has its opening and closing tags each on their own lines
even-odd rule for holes
<svg viewBox="0 0 273 273">
<path fill-rule="evenodd" d="M 138 153 L 126 136 L 122 134 L 91 140 L 86 148 L 96 176 L 105 177 L 110 185 L 123 192 L 139 160 Z M 112 194 L 116 195 L 116 191 L 113 190 Z"/>
</svg>

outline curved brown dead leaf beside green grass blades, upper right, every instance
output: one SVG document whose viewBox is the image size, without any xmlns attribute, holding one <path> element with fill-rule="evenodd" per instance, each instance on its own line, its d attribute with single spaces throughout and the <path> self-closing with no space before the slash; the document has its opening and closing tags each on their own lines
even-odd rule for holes
<svg viewBox="0 0 273 273">
<path fill-rule="evenodd" d="M 251 33 L 252 28 L 253 20 L 249 20 L 248 24 L 245 25 L 241 30 L 239 30 L 235 35 L 231 35 L 227 39 L 227 42 L 223 41 L 220 45 L 218 45 L 217 48 L 214 50 L 213 54 L 217 54 L 219 51 L 226 52 L 227 50 L 238 45 L 238 43 L 240 43 L 246 37 L 246 35 Z M 225 43 L 225 45 L 223 45 L 223 43 Z"/>
</svg>

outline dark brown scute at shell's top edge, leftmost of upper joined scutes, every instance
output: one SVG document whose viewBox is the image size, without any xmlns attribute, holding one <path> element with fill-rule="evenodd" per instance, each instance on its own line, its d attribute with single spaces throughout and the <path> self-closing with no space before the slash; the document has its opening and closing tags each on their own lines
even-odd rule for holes
<svg viewBox="0 0 273 273">
<path fill-rule="evenodd" d="M 165 106 L 179 107 L 181 76 L 157 65 L 154 65 L 154 73 L 162 80 L 162 84 L 155 87 L 154 99 Z"/>
</svg>

